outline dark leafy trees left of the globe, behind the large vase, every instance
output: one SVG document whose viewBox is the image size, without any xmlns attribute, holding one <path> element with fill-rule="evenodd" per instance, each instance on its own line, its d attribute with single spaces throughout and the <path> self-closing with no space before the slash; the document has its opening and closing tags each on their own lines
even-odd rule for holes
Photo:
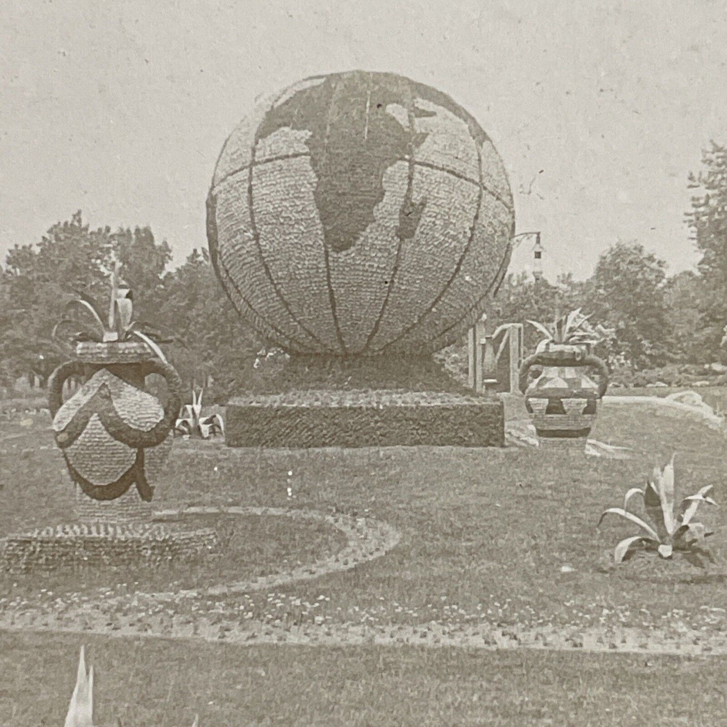
<svg viewBox="0 0 727 727">
<path fill-rule="evenodd" d="M 209 377 L 234 388 L 252 371 L 260 348 L 246 331 L 214 276 L 206 251 L 169 270 L 172 251 L 149 228 L 92 230 L 81 212 L 58 222 L 35 245 L 15 246 L 0 271 L 0 384 L 21 376 L 44 385 L 71 350 L 53 340 L 65 303 L 89 294 L 105 310 L 114 260 L 134 293 L 134 318 L 176 334 L 169 356 L 191 386 Z M 209 400 L 209 398 L 208 398 Z"/>
</svg>

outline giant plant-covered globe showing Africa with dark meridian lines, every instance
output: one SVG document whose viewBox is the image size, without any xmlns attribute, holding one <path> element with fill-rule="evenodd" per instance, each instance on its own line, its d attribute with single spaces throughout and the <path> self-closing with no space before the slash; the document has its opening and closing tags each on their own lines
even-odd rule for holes
<svg viewBox="0 0 727 727">
<path fill-rule="evenodd" d="M 212 262 L 241 317 L 292 354 L 425 355 L 481 316 L 513 196 L 481 126 L 391 73 L 305 79 L 225 142 Z"/>
</svg>

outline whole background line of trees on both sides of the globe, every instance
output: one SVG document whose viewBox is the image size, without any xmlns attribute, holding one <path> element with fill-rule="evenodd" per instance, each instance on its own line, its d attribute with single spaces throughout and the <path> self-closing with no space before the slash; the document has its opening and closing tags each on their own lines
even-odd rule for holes
<svg viewBox="0 0 727 727">
<path fill-rule="evenodd" d="M 613 329 L 609 358 L 633 369 L 726 361 L 727 147 L 712 143 L 688 183 L 694 191 L 686 220 L 700 254 L 696 271 L 668 276 L 664 260 L 641 244 L 617 242 L 585 281 L 511 274 L 490 323 L 547 322 L 582 308 Z M 30 372 L 42 383 L 68 358 L 51 335 L 63 305 L 76 291 L 105 305 L 115 261 L 134 291 L 135 318 L 172 332 L 167 349 L 183 378 L 202 385 L 212 377 L 220 390 L 244 385 L 263 342 L 238 319 L 206 250 L 194 250 L 172 269 L 172 249 L 150 228 L 93 230 L 76 212 L 39 243 L 7 254 L 0 272 L 0 386 Z M 534 347 L 536 335 L 527 330 L 526 348 Z"/>
</svg>

